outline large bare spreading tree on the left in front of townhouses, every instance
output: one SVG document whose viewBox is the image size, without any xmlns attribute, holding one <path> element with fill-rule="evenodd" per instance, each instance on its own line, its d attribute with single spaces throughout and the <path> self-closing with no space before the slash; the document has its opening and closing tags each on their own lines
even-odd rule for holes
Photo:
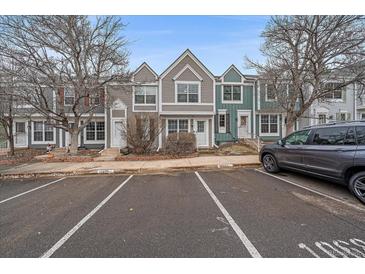
<svg viewBox="0 0 365 274">
<path fill-rule="evenodd" d="M 93 19 L 0 17 L 0 56 L 19 68 L 12 75 L 17 82 L 12 93 L 53 126 L 70 133 L 71 153 L 77 152 L 80 132 L 105 107 L 106 85 L 129 79 L 127 42 L 121 35 L 125 25 L 118 17 Z"/>
</svg>

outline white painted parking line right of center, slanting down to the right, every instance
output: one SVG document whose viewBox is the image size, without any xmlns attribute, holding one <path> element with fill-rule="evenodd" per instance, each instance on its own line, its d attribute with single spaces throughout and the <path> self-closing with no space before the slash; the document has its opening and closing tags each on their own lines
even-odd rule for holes
<svg viewBox="0 0 365 274">
<path fill-rule="evenodd" d="M 233 228 L 234 232 L 236 232 L 238 238 L 240 238 L 243 245 L 246 247 L 247 251 L 251 254 L 254 258 L 261 258 L 260 253 L 257 251 L 255 246 L 250 242 L 250 240 L 247 238 L 245 233 L 243 233 L 242 229 L 237 225 L 237 223 L 233 220 L 232 216 L 228 213 L 228 211 L 224 208 L 222 203 L 218 200 L 218 198 L 215 196 L 213 191 L 209 188 L 209 186 L 205 183 L 203 178 L 200 176 L 200 174 L 196 171 L 195 175 L 198 177 L 200 182 L 203 184 L 204 188 L 209 193 L 210 197 L 213 199 L 215 204 L 218 206 L 220 211 L 223 213 L 224 217 L 227 219 L 228 223 Z"/>
</svg>

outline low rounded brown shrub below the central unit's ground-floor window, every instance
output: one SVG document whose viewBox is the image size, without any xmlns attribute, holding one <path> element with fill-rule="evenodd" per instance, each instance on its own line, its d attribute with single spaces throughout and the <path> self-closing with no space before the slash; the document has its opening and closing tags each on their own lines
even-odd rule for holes
<svg viewBox="0 0 365 274">
<path fill-rule="evenodd" d="M 170 133 L 164 147 L 165 153 L 186 155 L 196 151 L 195 134 L 188 132 Z"/>
</svg>

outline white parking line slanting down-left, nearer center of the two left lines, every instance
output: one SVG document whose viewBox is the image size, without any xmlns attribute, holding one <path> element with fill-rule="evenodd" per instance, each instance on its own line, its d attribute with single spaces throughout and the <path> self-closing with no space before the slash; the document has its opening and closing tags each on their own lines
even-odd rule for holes
<svg viewBox="0 0 365 274">
<path fill-rule="evenodd" d="M 52 246 L 48 251 L 46 251 L 41 258 L 49 258 L 53 253 L 57 251 L 84 223 L 86 223 L 98 210 L 105 205 L 114 195 L 121 189 L 133 175 L 130 175 L 123 183 L 121 183 L 116 189 L 113 190 L 100 204 L 98 204 L 89 214 L 87 214 L 82 220 L 75 225 L 69 232 L 65 234 L 54 246 Z"/>
</svg>

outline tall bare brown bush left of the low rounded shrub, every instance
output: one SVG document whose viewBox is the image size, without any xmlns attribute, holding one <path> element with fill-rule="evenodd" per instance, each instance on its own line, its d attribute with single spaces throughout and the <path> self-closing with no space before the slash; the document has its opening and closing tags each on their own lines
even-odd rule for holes
<svg viewBox="0 0 365 274">
<path fill-rule="evenodd" d="M 151 113 L 137 113 L 130 116 L 121 128 L 121 138 L 127 140 L 133 153 L 145 154 L 155 149 L 158 135 L 163 130 L 160 121 Z"/>
</svg>

